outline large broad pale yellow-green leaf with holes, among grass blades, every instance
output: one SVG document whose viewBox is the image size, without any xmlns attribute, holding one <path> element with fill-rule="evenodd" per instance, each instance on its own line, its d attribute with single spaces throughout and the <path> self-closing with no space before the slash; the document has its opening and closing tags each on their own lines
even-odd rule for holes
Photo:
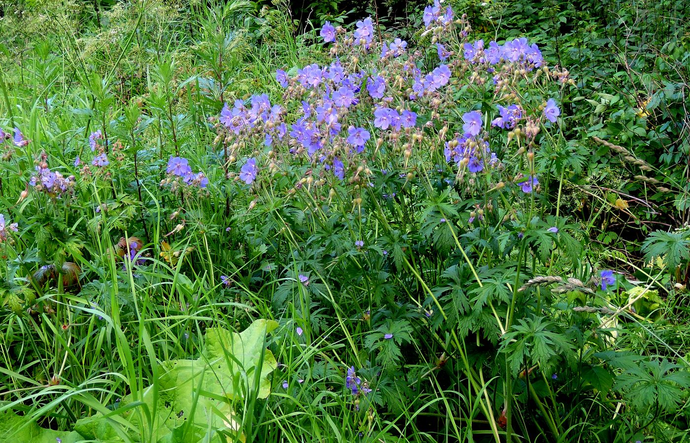
<svg viewBox="0 0 690 443">
<path fill-rule="evenodd" d="M 266 349 L 266 334 L 278 326 L 273 320 L 255 320 L 242 333 L 206 329 L 206 340 L 197 360 L 162 362 L 159 379 L 139 393 L 135 402 L 126 396 L 120 419 L 132 425 L 132 440 L 142 426 L 153 429 L 152 442 L 225 442 L 221 435 L 235 435 L 234 400 L 266 398 L 268 374 L 276 368 Z M 128 407 L 129 406 L 129 407 Z M 145 413 L 144 411 L 148 411 Z M 150 415 L 153 423 L 144 417 Z M 101 414 L 77 421 L 75 431 L 87 439 L 121 442 L 110 418 Z M 240 440 L 242 435 L 235 435 Z"/>
</svg>

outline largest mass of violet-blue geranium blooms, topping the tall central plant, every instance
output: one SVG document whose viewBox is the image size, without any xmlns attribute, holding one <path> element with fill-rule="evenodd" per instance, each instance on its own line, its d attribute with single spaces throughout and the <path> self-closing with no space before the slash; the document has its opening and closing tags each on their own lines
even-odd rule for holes
<svg viewBox="0 0 690 443">
<path fill-rule="evenodd" d="M 362 189 L 374 186 L 373 165 L 382 174 L 384 168 L 398 169 L 390 176 L 410 179 L 433 164 L 435 145 L 444 143 L 455 181 L 477 183 L 476 174 L 490 176 L 508 166 L 496 154 L 501 150 L 491 147 L 504 135 L 492 131 L 507 130 L 508 143 L 517 140 L 522 152 L 523 147 L 533 151 L 541 128 L 557 123 L 560 115 L 554 99 L 530 103 L 534 94 L 518 93 L 521 84 L 533 84 L 540 74 L 556 76 L 538 46 L 524 38 L 486 46 L 482 40 L 467 41 L 466 17 L 455 19 L 452 8 L 438 0 L 424 10 L 424 25 L 434 35 L 430 50 L 441 61 L 426 72 L 426 52 L 408 50 L 399 38 L 378 43 L 371 17 L 358 21 L 352 32 L 324 23 L 320 35 L 331 45 L 333 59 L 305 65 L 294 75 L 277 70 L 275 79 L 284 88 L 280 105 L 266 94 L 224 105 L 216 141 L 224 145 L 226 165 L 253 151 L 228 177 L 252 185 L 251 192 L 264 169 L 266 177 L 300 170 L 306 173 L 295 190 L 328 184 L 332 191 L 338 182 Z M 463 106 L 457 93 L 464 82 L 493 89 L 498 103 Z M 455 116 L 462 124 L 451 130 Z M 453 135 L 446 138 L 449 132 Z M 184 166 L 179 167 L 186 171 Z M 538 185 L 534 163 L 529 167 L 511 174 L 523 192 Z"/>
</svg>

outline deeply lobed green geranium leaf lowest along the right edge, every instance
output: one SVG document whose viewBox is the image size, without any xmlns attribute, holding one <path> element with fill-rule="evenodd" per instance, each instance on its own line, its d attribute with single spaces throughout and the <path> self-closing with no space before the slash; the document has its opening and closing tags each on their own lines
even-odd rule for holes
<svg viewBox="0 0 690 443">
<path fill-rule="evenodd" d="M 690 372 L 669 360 L 643 361 L 618 375 L 615 389 L 640 411 L 659 407 L 671 412 L 687 397 Z"/>
</svg>

